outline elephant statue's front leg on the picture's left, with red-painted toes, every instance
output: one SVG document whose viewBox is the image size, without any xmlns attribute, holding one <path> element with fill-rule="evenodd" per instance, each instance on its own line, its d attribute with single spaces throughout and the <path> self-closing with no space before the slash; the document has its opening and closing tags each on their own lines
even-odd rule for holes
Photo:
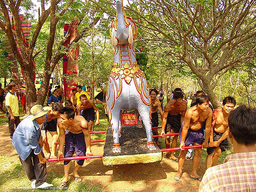
<svg viewBox="0 0 256 192">
<path fill-rule="evenodd" d="M 112 110 L 112 119 L 111 119 L 111 127 L 113 132 L 113 153 L 120 153 L 121 147 L 119 144 L 119 120 L 120 120 L 120 110 Z"/>
</svg>

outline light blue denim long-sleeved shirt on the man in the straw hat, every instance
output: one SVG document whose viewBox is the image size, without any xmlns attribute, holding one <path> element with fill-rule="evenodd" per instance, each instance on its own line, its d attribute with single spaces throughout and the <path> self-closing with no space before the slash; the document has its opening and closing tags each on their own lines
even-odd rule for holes
<svg viewBox="0 0 256 192">
<path fill-rule="evenodd" d="M 12 144 L 14 145 L 18 155 L 22 160 L 26 160 L 31 151 L 34 150 L 34 154 L 41 153 L 38 140 L 41 136 L 39 125 L 35 120 L 31 120 L 32 115 L 26 117 L 20 122 L 13 133 Z M 46 115 L 46 121 L 48 115 Z"/>
</svg>

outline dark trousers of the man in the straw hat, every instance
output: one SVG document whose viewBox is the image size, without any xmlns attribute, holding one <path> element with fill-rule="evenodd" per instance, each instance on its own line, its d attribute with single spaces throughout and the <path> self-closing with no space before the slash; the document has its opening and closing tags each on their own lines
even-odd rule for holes
<svg viewBox="0 0 256 192">
<path fill-rule="evenodd" d="M 42 153 L 42 157 L 44 156 L 44 153 Z M 39 163 L 39 158 L 37 155 L 34 154 L 34 151 L 30 153 L 28 158 L 23 161 L 22 158 L 19 157 L 20 162 L 23 165 L 23 168 L 25 170 L 25 173 L 30 181 L 35 181 L 35 186 L 38 187 L 42 183 L 46 182 L 46 163 L 41 164 Z"/>
</svg>

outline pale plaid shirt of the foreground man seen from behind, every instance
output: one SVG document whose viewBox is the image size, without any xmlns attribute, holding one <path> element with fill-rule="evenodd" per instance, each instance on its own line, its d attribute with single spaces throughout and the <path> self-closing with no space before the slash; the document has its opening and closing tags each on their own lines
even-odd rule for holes
<svg viewBox="0 0 256 192">
<path fill-rule="evenodd" d="M 208 168 L 199 191 L 256 191 L 256 152 L 232 154 Z"/>
</svg>

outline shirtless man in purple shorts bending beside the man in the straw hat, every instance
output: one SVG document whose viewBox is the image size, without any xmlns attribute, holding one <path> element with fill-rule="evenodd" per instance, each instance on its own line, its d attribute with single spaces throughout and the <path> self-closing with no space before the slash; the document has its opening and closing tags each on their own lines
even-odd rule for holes
<svg viewBox="0 0 256 192">
<path fill-rule="evenodd" d="M 80 115 L 75 116 L 72 108 L 65 106 L 60 110 L 60 118 L 57 120 L 59 127 L 59 150 L 58 159 L 63 157 L 63 145 L 65 142 L 64 157 L 72 157 L 74 152 L 76 156 L 92 156 L 91 136 L 88 131 L 87 121 Z M 65 130 L 67 132 L 65 133 Z M 73 177 L 76 182 L 81 182 L 82 178 L 77 171 L 83 165 L 83 160 L 76 160 L 73 170 Z M 71 161 L 64 161 L 64 178 L 59 185 L 65 187 L 69 183 L 69 169 Z"/>
</svg>

